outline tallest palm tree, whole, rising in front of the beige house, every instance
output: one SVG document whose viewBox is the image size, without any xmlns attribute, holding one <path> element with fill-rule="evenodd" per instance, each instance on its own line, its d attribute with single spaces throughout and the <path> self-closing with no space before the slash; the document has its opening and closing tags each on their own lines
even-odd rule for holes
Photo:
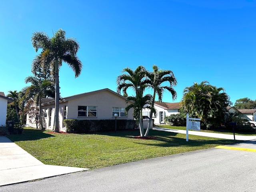
<svg viewBox="0 0 256 192">
<path fill-rule="evenodd" d="M 59 98 L 60 98 L 60 86 L 59 86 L 59 68 L 62 66 L 62 62 L 66 62 L 70 68 L 75 72 L 75 77 L 78 77 L 82 70 L 82 62 L 76 56 L 79 44 L 74 38 L 66 38 L 66 32 L 59 29 L 52 38 L 45 32 L 35 32 L 32 35 L 32 46 L 36 52 L 38 49 L 42 49 L 40 54 L 40 62 L 32 63 L 40 64 L 42 68 L 50 65 L 52 73 L 55 75 L 55 132 L 59 132 Z"/>
</svg>

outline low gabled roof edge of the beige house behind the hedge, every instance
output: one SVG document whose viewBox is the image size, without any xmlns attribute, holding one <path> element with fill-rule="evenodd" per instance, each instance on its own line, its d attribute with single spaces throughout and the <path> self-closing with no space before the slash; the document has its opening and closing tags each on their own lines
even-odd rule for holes
<svg viewBox="0 0 256 192">
<path fill-rule="evenodd" d="M 126 97 L 108 89 L 108 88 L 105 88 L 105 89 L 101 89 L 101 90 L 96 90 L 96 91 L 91 91 L 91 92 L 86 92 L 86 93 L 82 93 L 82 94 L 77 94 L 77 95 L 73 95 L 73 96 L 69 96 L 69 97 L 64 97 L 64 98 L 61 98 L 60 99 L 60 102 L 66 102 L 68 100 L 72 100 L 72 99 L 76 99 L 76 98 L 80 98 L 80 97 L 83 97 L 83 96 L 87 96 L 87 95 L 90 95 L 90 94 L 95 94 L 95 93 L 99 93 L 99 92 L 103 92 L 103 91 L 109 91 L 113 94 L 116 94 L 117 96 L 120 96 L 124 99 L 126 99 Z M 50 101 L 46 101 L 46 102 L 42 102 L 42 105 L 49 105 L 49 104 L 55 104 L 55 100 L 50 100 Z"/>
</svg>

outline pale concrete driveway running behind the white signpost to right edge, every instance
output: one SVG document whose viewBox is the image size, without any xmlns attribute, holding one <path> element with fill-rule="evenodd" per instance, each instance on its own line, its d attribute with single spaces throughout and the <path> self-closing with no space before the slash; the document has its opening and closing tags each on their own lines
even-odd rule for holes
<svg viewBox="0 0 256 192">
<path fill-rule="evenodd" d="M 153 130 L 186 134 L 186 130 L 178 130 L 178 129 L 166 129 L 166 128 L 153 127 Z M 220 138 L 220 139 L 234 140 L 234 135 L 229 135 L 229 134 L 206 133 L 206 132 L 200 132 L 200 131 L 188 131 L 188 139 L 189 139 L 189 135 L 197 135 L 197 136 L 204 136 L 204 137 L 214 137 L 214 138 Z M 255 140 L 256 136 L 243 136 L 243 135 L 236 135 L 236 133 L 235 133 L 235 138 L 236 138 L 236 140 L 249 141 L 249 140 Z"/>
</svg>

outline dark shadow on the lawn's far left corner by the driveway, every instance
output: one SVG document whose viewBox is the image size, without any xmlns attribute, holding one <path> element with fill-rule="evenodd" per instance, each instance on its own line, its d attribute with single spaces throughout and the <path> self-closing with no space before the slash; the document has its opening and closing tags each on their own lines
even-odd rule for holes
<svg viewBox="0 0 256 192">
<path fill-rule="evenodd" d="M 54 137 L 51 134 L 44 133 L 44 130 L 40 129 L 24 129 L 23 134 L 18 135 L 8 135 L 7 136 L 11 141 L 30 141 L 30 140 L 38 140 L 42 138 Z"/>
</svg>

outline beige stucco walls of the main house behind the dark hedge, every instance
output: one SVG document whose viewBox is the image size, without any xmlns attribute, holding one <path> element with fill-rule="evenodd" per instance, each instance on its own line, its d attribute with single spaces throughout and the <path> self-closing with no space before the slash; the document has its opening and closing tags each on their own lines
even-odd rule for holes
<svg viewBox="0 0 256 192">
<path fill-rule="evenodd" d="M 106 88 L 60 99 L 59 125 L 60 131 L 65 131 L 64 119 L 103 120 L 117 119 L 133 120 L 133 109 L 126 115 L 126 98 Z M 130 103 L 128 103 L 130 104 Z M 46 129 L 54 129 L 55 100 L 42 103 Z M 32 121 L 33 122 L 33 121 Z M 27 126 L 36 127 L 27 118 Z"/>
</svg>

